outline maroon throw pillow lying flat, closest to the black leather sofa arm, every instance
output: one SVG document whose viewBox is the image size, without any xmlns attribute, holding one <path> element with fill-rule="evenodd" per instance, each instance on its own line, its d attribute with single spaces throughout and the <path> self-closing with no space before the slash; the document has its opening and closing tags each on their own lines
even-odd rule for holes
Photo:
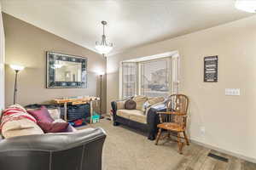
<svg viewBox="0 0 256 170">
<path fill-rule="evenodd" d="M 63 133 L 67 132 L 68 122 L 38 122 L 44 133 Z"/>
</svg>

